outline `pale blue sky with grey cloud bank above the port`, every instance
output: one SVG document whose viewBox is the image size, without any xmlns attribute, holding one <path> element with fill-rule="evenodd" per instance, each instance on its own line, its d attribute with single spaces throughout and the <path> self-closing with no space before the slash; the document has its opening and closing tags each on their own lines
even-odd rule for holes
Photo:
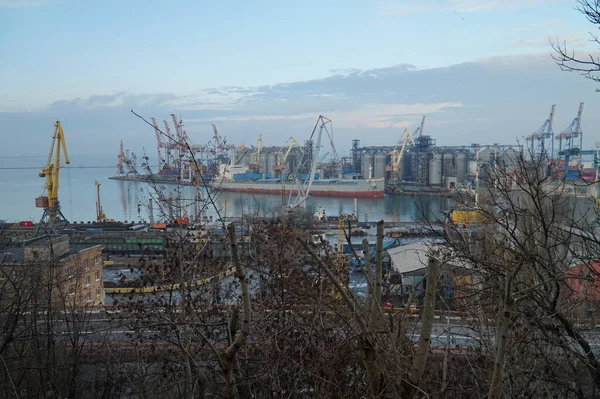
<svg viewBox="0 0 600 399">
<path fill-rule="evenodd" d="M 585 102 L 600 141 L 600 84 L 560 70 L 552 40 L 598 51 L 574 0 L 0 0 L 0 157 L 154 154 L 131 109 L 181 115 L 194 143 L 307 139 L 319 114 L 338 152 L 392 145 L 405 127 L 440 145 L 514 143 L 556 104 L 555 131 Z"/>
</svg>

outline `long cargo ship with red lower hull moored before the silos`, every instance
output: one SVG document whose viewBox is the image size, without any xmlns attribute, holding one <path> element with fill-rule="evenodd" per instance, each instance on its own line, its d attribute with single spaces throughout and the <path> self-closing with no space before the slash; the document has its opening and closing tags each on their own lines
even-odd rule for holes
<svg viewBox="0 0 600 399">
<path fill-rule="evenodd" d="M 225 165 L 224 165 L 225 166 Z M 300 176 L 306 182 L 308 176 Z M 271 178 L 268 173 L 249 173 L 245 167 L 225 167 L 211 187 L 216 191 L 289 195 L 298 193 L 298 184 L 289 174 Z M 310 185 L 309 195 L 321 197 L 381 198 L 385 194 L 384 179 L 320 179 Z"/>
</svg>

